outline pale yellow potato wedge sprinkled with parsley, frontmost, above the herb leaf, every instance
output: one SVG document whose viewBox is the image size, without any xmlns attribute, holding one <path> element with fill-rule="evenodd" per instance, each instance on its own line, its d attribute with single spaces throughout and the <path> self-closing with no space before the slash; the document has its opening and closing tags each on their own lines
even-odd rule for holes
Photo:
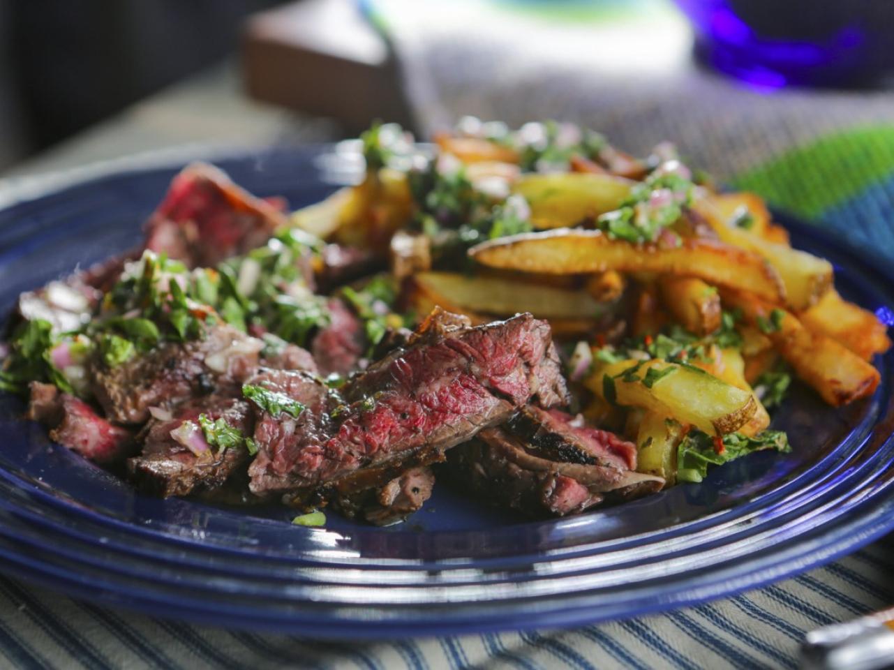
<svg viewBox="0 0 894 670">
<path fill-rule="evenodd" d="M 637 365 L 632 376 L 637 379 L 624 375 Z M 666 372 L 669 369 L 672 371 Z M 664 375 L 653 381 L 651 388 L 646 386 L 649 370 L 654 370 L 653 375 Z M 587 378 L 586 386 L 603 399 L 611 401 L 606 395 L 613 392 L 614 402 L 620 405 L 642 407 L 683 425 L 693 425 L 709 435 L 726 435 L 738 430 L 751 420 L 757 409 L 755 398 L 747 391 L 702 369 L 665 360 L 599 364 Z"/>
</svg>

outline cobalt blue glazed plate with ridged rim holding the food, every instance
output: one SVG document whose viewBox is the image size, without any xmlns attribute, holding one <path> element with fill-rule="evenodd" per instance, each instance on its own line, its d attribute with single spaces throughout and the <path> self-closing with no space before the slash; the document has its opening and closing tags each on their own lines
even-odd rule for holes
<svg viewBox="0 0 894 670">
<path fill-rule="evenodd" d="M 331 148 L 215 161 L 292 207 L 350 174 Z M 72 268 L 131 248 L 175 168 L 114 174 L 0 211 L 0 310 Z M 894 276 L 783 218 L 835 264 L 839 290 L 890 317 Z M 152 615 L 325 637 L 550 628 L 730 595 L 830 561 L 894 528 L 894 354 L 873 398 L 832 410 L 806 388 L 779 412 L 791 454 L 753 454 L 701 484 L 567 519 L 529 522 L 439 485 L 387 529 L 282 507 L 157 500 L 21 420 L 0 398 L 0 567 Z"/>
</svg>

